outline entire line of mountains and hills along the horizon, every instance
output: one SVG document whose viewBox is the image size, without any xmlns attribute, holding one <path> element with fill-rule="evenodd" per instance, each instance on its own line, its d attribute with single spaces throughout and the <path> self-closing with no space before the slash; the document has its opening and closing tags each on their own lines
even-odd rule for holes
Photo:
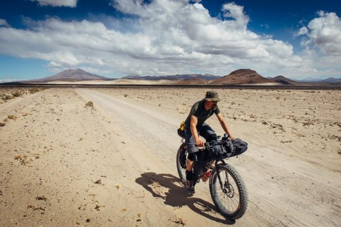
<svg viewBox="0 0 341 227">
<path fill-rule="evenodd" d="M 299 85 L 299 84 L 341 84 L 341 78 L 329 77 L 327 79 L 318 78 L 305 78 L 303 80 L 289 79 L 284 76 L 276 77 L 263 77 L 256 71 L 251 69 L 238 69 L 226 76 L 214 76 L 210 74 L 176 74 L 167 76 L 139 76 L 137 74 L 130 74 L 124 76 L 121 79 L 124 83 L 129 84 L 130 79 L 134 80 L 133 83 L 167 83 L 167 84 L 184 84 L 184 85 L 243 85 L 243 84 L 255 84 L 255 85 Z M 26 80 L 26 81 L 13 81 L 9 83 L 1 84 L 25 84 L 25 83 L 78 83 L 81 81 L 82 84 L 87 84 L 87 80 L 96 80 L 96 84 L 107 83 L 109 80 L 117 80 L 116 78 L 108 78 L 105 76 L 98 76 L 95 74 L 88 73 L 82 69 L 69 69 L 60 72 L 54 76 L 47 76 L 40 79 Z M 145 80 L 138 82 L 139 80 Z M 160 81 L 158 81 L 160 80 Z M 162 81 L 165 80 L 165 81 Z M 93 83 L 93 82 L 89 82 Z"/>
</svg>

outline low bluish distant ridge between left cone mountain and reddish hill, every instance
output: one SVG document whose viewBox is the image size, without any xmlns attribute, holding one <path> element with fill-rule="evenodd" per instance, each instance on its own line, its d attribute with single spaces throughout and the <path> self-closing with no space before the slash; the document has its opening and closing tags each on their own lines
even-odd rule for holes
<svg viewBox="0 0 341 227">
<path fill-rule="evenodd" d="M 122 77 L 122 79 L 132 79 L 132 78 L 126 78 Z M 137 79 L 144 79 L 144 80 L 161 80 L 161 79 L 168 79 L 168 80 L 182 80 L 182 79 L 191 79 L 191 78 L 200 78 L 205 80 L 213 80 L 216 78 L 220 78 L 220 76 L 214 76 L 210 74 L 176 74 L 176 75 L 167 75 L 167 76 L 141 76 Z M 136 79 L 136 77 L 134 78 Z"/>
</svg>

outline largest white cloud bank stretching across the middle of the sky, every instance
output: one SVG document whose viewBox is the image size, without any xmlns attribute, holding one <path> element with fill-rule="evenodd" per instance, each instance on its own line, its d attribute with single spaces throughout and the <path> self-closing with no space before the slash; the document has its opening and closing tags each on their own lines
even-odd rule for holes
<svg viewBox="0 0 341 227">
<path fill-rule="evenodd" d="M 295 55 L 291 44 L 249 30 L 250 18 L 233 2 L 222 5 L 223 19 L 211 17 L 199 0 L 113 0 L 111 5 L 133 17 L 106 23 L 23 18 L 27 29 L 0 27 L 0 54 L 44 59 L 53 71 L 83 67 L 119 76 L 222 76 L 240 68 L 301 76 L 314 64 L 308 52 Z M 310 23 L 307 28 L 306 35 L 312 35 Z"/>
</svg>

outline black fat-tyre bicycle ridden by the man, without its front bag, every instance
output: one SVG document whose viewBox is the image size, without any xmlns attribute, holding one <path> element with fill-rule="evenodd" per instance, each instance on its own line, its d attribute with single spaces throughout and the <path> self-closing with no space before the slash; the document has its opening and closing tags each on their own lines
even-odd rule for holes
<svg viewBox="0 0 341 227">
<path fill-rule="evenodd" d="M 218 136 L 217 141 L 221 140 L 229 140 L 228 135 L 225 134 L 223 138 Z M 207 171 L 211 171 L 208 183 L 214 205 L 223 216 L 229 219 L 239 219 L 247 209 L 246 186 L 239 172 L 224 161 L 228 158 L 214 160 L 210 157 L 208 148 L 214 142 L 216 141 L 206 142 L 205 147 L 199 148 L 198 152 L 205 152 L 200 155 L 202 160 L 198 160 L 198 155 L 195 156 L 193 165 L 194 186 L 200 182 Z M 182 138 L 176 154 L 176 167 L 184 185 L 186 182 L 186 157 L 186 142 Z"/>
</svg>

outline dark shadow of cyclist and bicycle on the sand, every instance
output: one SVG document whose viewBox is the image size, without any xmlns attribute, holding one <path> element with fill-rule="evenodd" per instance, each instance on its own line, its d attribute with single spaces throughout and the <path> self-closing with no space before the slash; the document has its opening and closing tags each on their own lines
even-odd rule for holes
<svg viewBox="0 0 341 227">
<path fill-rule="evenodd" d="M 210 213 L 217 213 L 215 206 L 202 199 L 191 198 L 192 194 L 188 193 L 187 190 L 180 185 L 179 178 L 171 174 L 145 172 L 142 173 L 141 177 L 137 178 L 135 182 L 151 192 L 154 197 L 164 199 L 166 205 L 174 208 L 188 206 L 194 212 L 212 221 L 227 225 L 235 223 L 234 220 L 224 218 L 223 216 L 221 216 L 222 218 L 212 216 Z M 161 192 L 159 190 L 160 186 L 169 190 Z"/>
</svg>

